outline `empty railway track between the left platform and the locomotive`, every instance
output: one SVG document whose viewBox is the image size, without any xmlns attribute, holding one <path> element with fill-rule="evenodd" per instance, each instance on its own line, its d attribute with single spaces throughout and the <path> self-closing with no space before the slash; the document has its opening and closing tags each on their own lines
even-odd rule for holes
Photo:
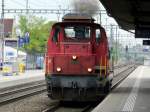
<svg viewBox="0 0 150 112">
<path fill-rule="evenodd" d="M 0 105 L 8 104 L 45 91 L 45 81 L 5 88 L 0 91 Z"/>
</svg>

